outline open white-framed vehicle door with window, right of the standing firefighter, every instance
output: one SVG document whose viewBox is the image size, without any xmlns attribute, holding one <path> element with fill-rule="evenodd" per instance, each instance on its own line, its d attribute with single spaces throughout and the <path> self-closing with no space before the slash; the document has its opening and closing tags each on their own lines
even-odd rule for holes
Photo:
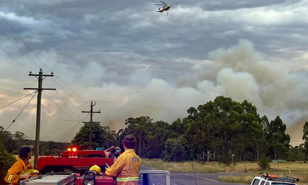
<svg viewBox="0 0 308 185">
<path fill-rule="evenodd" d="M 170 172 L 162 170 L 140 171 L 139 185 L 170 185 Z"/>
</svg>

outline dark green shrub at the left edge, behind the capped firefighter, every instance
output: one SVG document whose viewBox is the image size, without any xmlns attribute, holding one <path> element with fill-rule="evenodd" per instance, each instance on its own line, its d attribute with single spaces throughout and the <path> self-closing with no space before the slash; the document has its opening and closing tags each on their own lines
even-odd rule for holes
<svg viewBox="0 0 308 185">
<path fill-rule="evenodd" d="M 16 162 L 16 157 L 9 154 L 2 143 L 0 143 L 0 184 L 4 184 L 7 170 Z"/>
</svg>

